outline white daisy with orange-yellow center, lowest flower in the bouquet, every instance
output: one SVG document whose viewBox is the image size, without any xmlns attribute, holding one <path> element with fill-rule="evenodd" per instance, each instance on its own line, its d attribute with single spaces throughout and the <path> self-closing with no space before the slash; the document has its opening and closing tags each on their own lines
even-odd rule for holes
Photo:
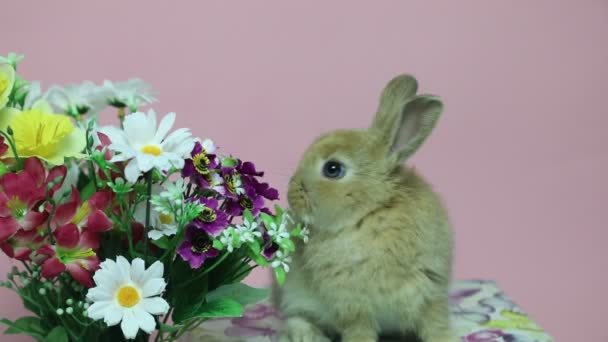
<svg viewBox="0 0 608 342">
<path fill-rule="evenodd" d="M 95 272 L 96 287 L 89 289 L 87 299 L 93 304 L 87 314 L 91 319 L 103 319 L 108 326 L 120 324 L 127 339 L 133 339 L 139 329 L 151 333 L 156 322 L 152 315 L 163 315 L 169 304 L 160 297 L 165 290 L 163 264 L 153 263 L 148 269 L 140 258 L 131 264 L 123 256 L 116 262 L 106 259 Z"/>
</svg>

